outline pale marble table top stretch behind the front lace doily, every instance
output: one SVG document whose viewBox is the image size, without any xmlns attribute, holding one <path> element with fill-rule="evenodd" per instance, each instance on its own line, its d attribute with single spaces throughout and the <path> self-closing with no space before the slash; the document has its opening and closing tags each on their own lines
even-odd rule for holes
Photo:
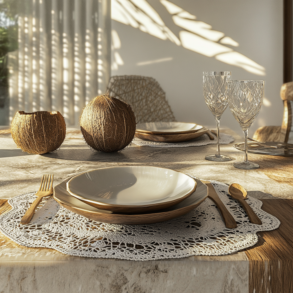
<svg viewBox="0 0 293 293">
<path fill-rule="evenodd" d="M 231 130 L 235 141 L 222 144 L 222 154 L 243 160 L 243 152 L 233 144 L 243 138 Z M 248 154 L 248 159 L 259 163 L 257 170 L 234 168 L 233 161 L 213 162 L 205 160 L 205 155 L 214 154 L 215 144 L 198 147 L 156 148 L 134 144 L 121 152 L 93 152 L 82 138 L 80 130 L 68 129 L 61 149 L 57 152 L 30 155 L 17 149 L 11 134 L 0 135 L 0 198 L 11 198 L 18 194 L 38 190 L 43 173 L 54 174 L 54 184 L 76 173 L 94 168 L 117 165 L 148 165 L 174 169 L 194 174 L 207 180 L 225 183 L 237 182 L 248 191 L 258 191 L 255 197 L 293 198 L 293 156 L 268 156 Z M 281 188 L 282 187 L 282 188 Z M 262 193 L 263 192 L 263 193 Z"/>
</svg>

